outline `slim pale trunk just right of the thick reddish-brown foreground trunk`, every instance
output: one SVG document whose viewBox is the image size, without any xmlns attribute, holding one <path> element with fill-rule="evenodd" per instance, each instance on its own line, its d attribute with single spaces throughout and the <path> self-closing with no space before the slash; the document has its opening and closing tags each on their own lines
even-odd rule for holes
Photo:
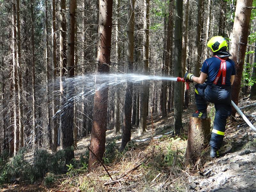
<svg viewBox="0 0 256 192">
<path fill-rule="evenodd" d="M 121 54 L 121 46 L 120 46 L 120 19 L 119 19 L 119 9 L 120 9 L 120 0 L 116 0 L 116 72 L 119 72 L 119 63 L 120 63 L 120 54 Z M 115 93 L 115 123 L 114 123 L 114 132 L 113 134 L 117 134 L 120 132 L 120 86 L 116 85 L 116 93 Z"/>
</svg>

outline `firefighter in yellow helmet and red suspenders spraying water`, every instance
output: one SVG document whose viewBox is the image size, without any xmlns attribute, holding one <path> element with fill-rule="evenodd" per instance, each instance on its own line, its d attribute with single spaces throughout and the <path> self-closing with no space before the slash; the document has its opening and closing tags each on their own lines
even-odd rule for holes
<svg viewBox="0 0 256 192">
<path fill-rule="evenodd" d="M 210 140 L 210 156 L 219 157 L 227 118 L 231 115 L 231 85 L 236 75 L 235 63 L 228 57 L 227 41 L 214 36 L 207 42 L 213 57 L 204 61 L 200 77 L 186 73 L 184 78 L 196 82 L 195 98 L 197 111 L 193 117 L 207 118 L 207 102 L 214 103 L 215 118 Z M 207 79 L 207 81 L 205 81 Z"/>
</svg>

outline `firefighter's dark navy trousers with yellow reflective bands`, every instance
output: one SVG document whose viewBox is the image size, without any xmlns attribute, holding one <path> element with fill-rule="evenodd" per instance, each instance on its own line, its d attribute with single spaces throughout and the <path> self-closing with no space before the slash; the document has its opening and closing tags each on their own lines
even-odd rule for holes
<svg viewBox="0 0 256 192">
<path fill-rule="evenodd" d="M 210 140 L 211 148 L 218 150 L 221 147 L 227 118 L 231 115 L 230 86 L 215 84 L 196 84 L 196 107 L 200 112 L 207 111 L 207 102 L 214 103 L 215 118 Z"/>
</svg>

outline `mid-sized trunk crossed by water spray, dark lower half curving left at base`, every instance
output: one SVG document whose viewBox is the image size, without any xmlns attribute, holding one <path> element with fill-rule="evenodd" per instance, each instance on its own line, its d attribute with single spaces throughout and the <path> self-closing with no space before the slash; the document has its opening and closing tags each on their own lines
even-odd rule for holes
<svg viewBox="0 0 256 192">
<path fill-rule="evenodd" d="M 132 73 L 133 50 L 134 50 L 134 0 L 128 0 L 127 6 L 127 42 L 126 42 L 126 73 Z M 123 150 L 131 140 L 132 129 L 132 83 L 125 83 L 124 98 L 124 126 L 122 132 L 122 143 L 120 149 Z"/>
</svg>

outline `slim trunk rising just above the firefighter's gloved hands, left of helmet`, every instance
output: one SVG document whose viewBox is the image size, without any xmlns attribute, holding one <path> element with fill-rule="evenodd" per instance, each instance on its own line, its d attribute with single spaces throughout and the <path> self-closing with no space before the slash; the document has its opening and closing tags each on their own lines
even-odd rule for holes
<svg viewBox="0 0 256 192">
<path fill-rule="evenodd" d="M 197 18 L 196 18 L 196 53 L 195 53 L 195 76 L 199 77 L 200 74 L 200 36 L 201 36 L 201 19 L 202 19 L 202 4 L 203 0 L 198 0 L 197 4 Z"/>
</svg>

